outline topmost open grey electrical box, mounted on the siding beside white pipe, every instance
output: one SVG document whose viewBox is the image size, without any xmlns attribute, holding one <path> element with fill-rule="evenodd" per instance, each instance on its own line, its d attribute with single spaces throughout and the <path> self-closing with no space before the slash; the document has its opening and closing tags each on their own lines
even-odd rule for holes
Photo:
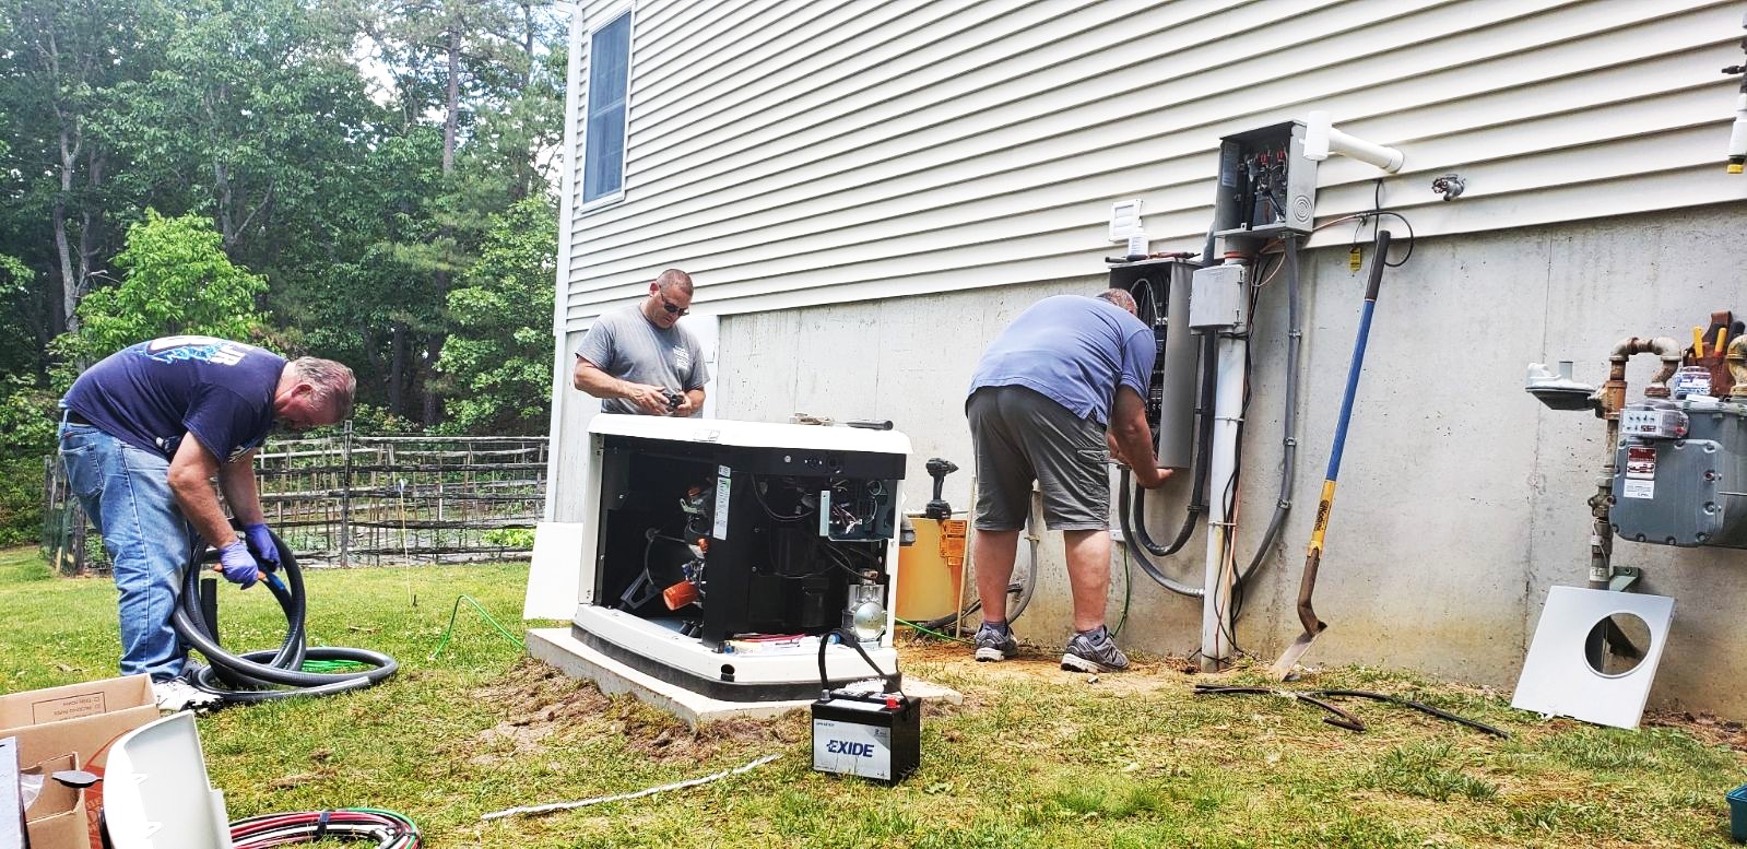
<svg viewBox="0 0 1747 849">
<path fill-rule="evenodd" d="M 1305 126 L 1296 121 L 1221 138 L 1218 234 L 1309 234 L 1315 222 L 1315 166 L 1305 159 Z"/>
</svg>

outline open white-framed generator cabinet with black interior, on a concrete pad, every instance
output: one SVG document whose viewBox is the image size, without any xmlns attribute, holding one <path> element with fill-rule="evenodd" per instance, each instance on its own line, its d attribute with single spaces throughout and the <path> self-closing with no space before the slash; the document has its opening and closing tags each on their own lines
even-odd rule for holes
<svg viewBox="0 0 1747 849">
<path fill-rule="evenodd" d="M 853 632 L 901 683 L 891 604 L 910 440 L 893 430 L 596 416 L 573 634 L 735 701 L 819 694 L 819 639 Z M 832 687 L 867 680 L 830 645 Z"/>
</svg>

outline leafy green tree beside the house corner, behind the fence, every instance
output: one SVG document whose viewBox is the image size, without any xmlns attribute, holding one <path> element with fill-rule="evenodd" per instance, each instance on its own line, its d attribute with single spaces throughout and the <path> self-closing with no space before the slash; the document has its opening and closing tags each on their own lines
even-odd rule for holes
<svg viewBox="0 0 1747 849">
<path fill-rule="evenodd" d="M 557 210 L 545 196 L 494 215 L 479 262 L 449 293 L 454 330 L 438 369 L 447 430 L 540 433 L 552 402 L 552 276 Z"/>
</svg>

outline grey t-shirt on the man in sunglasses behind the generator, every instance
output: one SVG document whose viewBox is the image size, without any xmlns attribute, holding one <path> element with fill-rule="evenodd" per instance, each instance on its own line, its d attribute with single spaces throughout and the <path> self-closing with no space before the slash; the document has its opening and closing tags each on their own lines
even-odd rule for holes
<svg viewBox="0 0 1747 849">
<path fill-rule="evenodd" d="M 577 346 L 589 360 L 620 381 L 666 386 L 674 391 L 702 390 L 709 383 L 704 348 L 685 321 L 655 327 L 638 304 L 601 313 Z M 625 398 L 601 398 L 601 412 L 643 412 Z M 695 416 L 695 414 L 694 414 Z"/>
</svg>

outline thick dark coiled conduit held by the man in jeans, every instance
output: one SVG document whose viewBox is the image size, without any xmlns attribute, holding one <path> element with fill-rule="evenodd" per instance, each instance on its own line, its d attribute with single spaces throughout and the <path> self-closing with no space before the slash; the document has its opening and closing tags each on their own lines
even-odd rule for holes
<svg viewBox="0 0 1747 849">
<path fill-rule="evenodd" d="M 274 535 L 273 545 L 280 549 L 280 569 L 264 573 L 260 582 L 273 592 L 285 611 L 285 641 L 278 650 L 227 652 L 218 643 L 218 624 L 210 622 L 201 610 L 201 576 L 206 564 L 217 561 L 215 550 L 197 543 L 204 552 L 190 559 L 182 569 L 182 592 L 176 597 L 176 610 L 171 624 L 185 645 L 206 655 L 211 666 L 194 667 L 189 676 L 194 687 L 217 695 L 225 702 L 252 704 L 273 699 L 290 699 L 297 695 L 332 695 L 381 683 L 395 674 L 400 662 L 381 652 L 365 648 L 325 646 L 307 648 L 304 645 L 304 575 L 297 568 L 297 557 Z M 281 578 L 283 575 L 283 578 Z M 304 660 L 353 662 L 374 669 L 362 673 L 306 673 Z M 409 844 L 412 846 L 412 844 Z"/>
</svg>

